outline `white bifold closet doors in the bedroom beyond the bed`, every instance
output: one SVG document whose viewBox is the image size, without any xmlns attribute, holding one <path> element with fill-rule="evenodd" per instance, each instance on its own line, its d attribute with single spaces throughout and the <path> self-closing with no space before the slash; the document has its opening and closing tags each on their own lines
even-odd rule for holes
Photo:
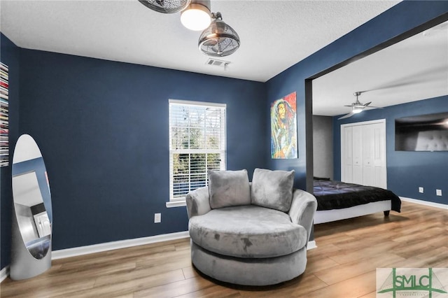
<svg viewBox="0 0 448 298">
<path fill-rule="evenodd" d="M 386 120 L 341 125 L 341 180 L 387 188 Z"/>
</svg>

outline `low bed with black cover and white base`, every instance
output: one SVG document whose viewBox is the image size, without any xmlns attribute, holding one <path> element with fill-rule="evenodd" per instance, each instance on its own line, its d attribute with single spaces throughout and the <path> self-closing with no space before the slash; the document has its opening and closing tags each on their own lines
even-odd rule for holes
<svg viewBox="0 0 448 298">
<path fill-rule="evenodd" d="M 390 190 L 379 187 L 344 183 L 329 178 L 314 178 L 314 197 L 317 211 L 314 224 L 355 218 L 389 211 L 400 212 L 400 198 Z"/>
</svg>

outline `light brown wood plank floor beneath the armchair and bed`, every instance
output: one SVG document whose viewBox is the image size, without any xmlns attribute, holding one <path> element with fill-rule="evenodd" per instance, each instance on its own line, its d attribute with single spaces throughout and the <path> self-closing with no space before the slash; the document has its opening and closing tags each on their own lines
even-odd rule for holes
<svg viewBox="0 0 448 298">
<path fill-rule="evenodd" d="M 302 276 L 253 288 L 212 281 L 190 263 L 190 240 L 52 262 L 25 281 L 6 278 L 0 297 L 375 297 L 377 267 L 448 267 L 448 210 L 402 202 L 402 213 L 315 226 Z M 448 288 L 448 281 L 444 282 Z"/>
</svg>

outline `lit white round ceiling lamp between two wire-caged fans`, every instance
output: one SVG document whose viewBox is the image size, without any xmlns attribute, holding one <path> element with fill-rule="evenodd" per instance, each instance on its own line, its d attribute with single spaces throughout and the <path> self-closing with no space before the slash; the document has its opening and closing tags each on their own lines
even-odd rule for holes
<svg viewBox="0 0 448 298">
<path fill-rule="evenodd" d="M 209 0 L 191 0 L 190 5 L 181 13 L 181 23 L 190 30 L 204 30 L 211 22 L 210 15 Z"/>
</svg>

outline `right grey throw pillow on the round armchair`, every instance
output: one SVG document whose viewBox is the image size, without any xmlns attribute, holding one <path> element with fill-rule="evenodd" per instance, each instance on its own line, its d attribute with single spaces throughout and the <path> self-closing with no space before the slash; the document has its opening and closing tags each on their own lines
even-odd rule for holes
<svg viewBox="0 0 448 298">
<path fill-rule="evenodd" d="M 253 171 L 251 202 L 254 205 L 288 212 L 293 201 L 293 171 Z"/>
</svg>

